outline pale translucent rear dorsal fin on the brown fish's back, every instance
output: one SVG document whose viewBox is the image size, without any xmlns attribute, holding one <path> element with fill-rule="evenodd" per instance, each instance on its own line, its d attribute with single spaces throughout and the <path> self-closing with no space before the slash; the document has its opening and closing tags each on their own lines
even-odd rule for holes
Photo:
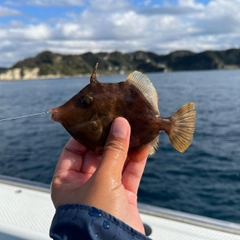
<svg viewBox="0 0 240 240">
<path fill-rule="evenodd" d="M 126 81 L 132 83 L 135 87 L 137 87 L 143 93 L 146 99 L 151 103 L 154 109 L 159 113 L 157 91 L 150 79 L 145 74 L 134 71 L 128 75 Z"/>
</svg>

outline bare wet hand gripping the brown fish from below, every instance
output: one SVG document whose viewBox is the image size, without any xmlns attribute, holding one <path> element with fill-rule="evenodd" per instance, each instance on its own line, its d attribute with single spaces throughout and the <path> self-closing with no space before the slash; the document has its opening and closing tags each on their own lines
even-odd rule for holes
<svg viewBox="0 0 240 240">
<path fill-rule="evenodd" d="M 150 146 L 128 155 L 129 139 L 130 126 L 124 118 L 114 120 L 101 156 L 70 139 L 52 180 L 55 207 L 94 206 L 144 233 L 137 208 L 137 190 Z"/>
</svg>

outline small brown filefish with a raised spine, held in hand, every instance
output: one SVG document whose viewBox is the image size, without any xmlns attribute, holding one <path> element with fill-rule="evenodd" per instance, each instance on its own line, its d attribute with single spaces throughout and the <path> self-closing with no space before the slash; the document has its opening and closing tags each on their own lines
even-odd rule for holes
<svg viewBox="0 0 240 240">
<path fill-rule="evenodd" d="M 51 119 L 90 151 L 101 154 L 111 124 L 124 117 L 131 126 L 129 152 L 150 144 L 150 155 L 158 148 L 159 133 L 167 133 L 173 147 L 184 152 L 193 139 L 196 111 L 189 102 L 172 116 L 162 118 L 158 93 L 150 79 L 139 71 L 125 81 L 102 83 L 93 69 L 90 83 L 59 107 L 51 108 Z"/>
</svg>

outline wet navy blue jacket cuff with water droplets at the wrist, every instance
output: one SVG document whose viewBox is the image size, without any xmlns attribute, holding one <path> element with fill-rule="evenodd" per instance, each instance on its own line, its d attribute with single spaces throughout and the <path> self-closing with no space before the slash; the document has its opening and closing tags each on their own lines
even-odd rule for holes
<svg viewBox="0 0 240 240">
<path fill-rule="evenodd" d="M 54 240 L 150 240 L 109 213 L 82 204 L 56 209 L 50 237 Z"/>
</svg>

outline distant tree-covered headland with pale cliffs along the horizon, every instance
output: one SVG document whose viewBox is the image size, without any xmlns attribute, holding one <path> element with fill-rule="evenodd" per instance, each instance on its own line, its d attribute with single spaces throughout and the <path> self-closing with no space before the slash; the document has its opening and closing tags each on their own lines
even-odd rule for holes
<svg viewBox="0 0 240 240">
<path fill-rule="evenodd" d="M 0 80 L 22 80 L 90 75 L 96 63 L 99 74 L 140 72 L 172 72 L 189 70 L 240 68 L 240 48 L 224 51 L 175 51 L 167 55 L 137 51 L 132 53 L 87 52 L 63 55 L 44 51 L 26 58 L 10 68 L 0 67 Z"/>
</svg>

